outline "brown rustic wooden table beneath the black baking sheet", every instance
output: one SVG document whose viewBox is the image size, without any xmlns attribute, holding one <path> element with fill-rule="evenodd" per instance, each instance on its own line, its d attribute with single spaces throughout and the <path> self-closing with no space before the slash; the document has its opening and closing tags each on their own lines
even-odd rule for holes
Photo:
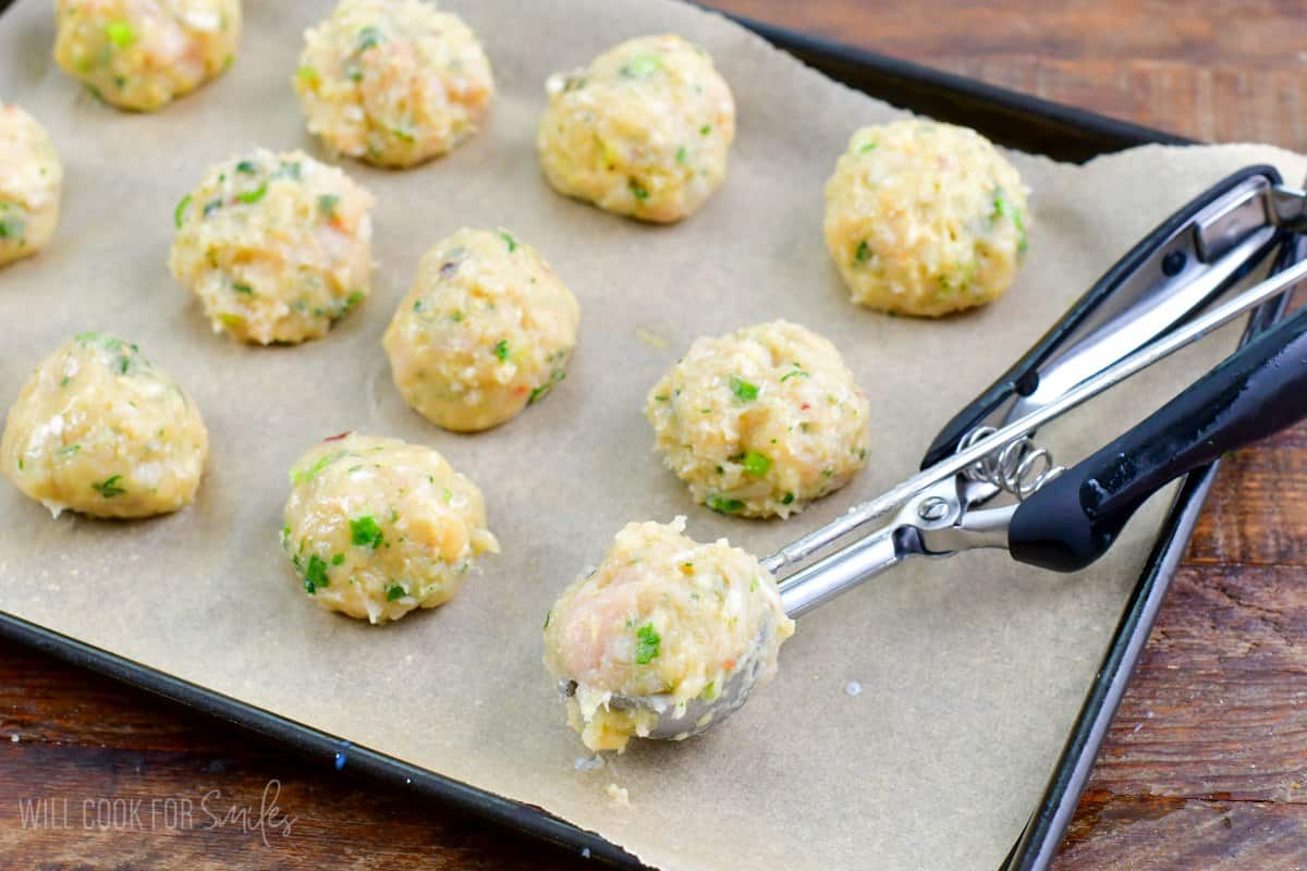
<svg viewBox="0 0 1307 871">
<path fill-rule="evenodd" d="M 715 5 L 1199 138 L 1307 149 L 1300 1 Z M 1307 867 L 1304 560 L 1299 427 L 1223 464 L 1060 871 Z M 276 804 L 295 817 L 290 837 L 276 816 L 255 825 L 269 781 L 280 782 Z M 18 799 L 35 795 L 69 797 L 67 828 L 24 828 Z M 114 823 L 116 810 L 122 827 L 84 828 L 88 799 L 93 824 L 101 812 Z M 246 825 L 237 814 L 210 827 L 205 815 L 243 807 Z M 0 867 L 341 866 L 592 867 L 0 644 Z"/>
</svg>

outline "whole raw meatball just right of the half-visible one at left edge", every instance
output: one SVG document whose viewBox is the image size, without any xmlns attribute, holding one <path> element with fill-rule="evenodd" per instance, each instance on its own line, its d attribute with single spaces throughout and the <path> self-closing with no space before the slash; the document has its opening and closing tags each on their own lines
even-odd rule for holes
<svg viewBox="0 0 1307 871">
<path fill-rule="evenodd" d="M 303 151 L 209 170 L 176 206 L 169 266 L 213 332 L 243 342 L 320 338 L 367 298 L 371 195 Z"/>
</svg>

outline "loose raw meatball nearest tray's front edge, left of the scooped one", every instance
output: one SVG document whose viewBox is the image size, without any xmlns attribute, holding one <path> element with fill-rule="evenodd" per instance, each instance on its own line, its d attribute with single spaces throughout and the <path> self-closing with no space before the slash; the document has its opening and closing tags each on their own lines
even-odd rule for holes
<svg viewBox="0 0 1307 871">
<path fill-rule="evenodd" d="M 314 601 L 371 623 L 444 605 L 499 552 L 481 490 L 444 457 L 353 434 L 291 467 L 281 546 Z"/>
</svg>

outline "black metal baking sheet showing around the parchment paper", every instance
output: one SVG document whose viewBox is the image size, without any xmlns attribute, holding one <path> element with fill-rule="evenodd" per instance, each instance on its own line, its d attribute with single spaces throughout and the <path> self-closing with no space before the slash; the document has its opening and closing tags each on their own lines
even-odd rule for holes
<svg viewBox="0 0 1307 871">
<path fill-rule="evenodd" d="M 0 0 L 0 14 L 12 1 Z M 729 17 L 850 87 L 923 115 L 972 127 L 1009 148 L 1046 154 L 1059 161 L 1084 162 L 1098 154 L 1136 145 L 1192 144 L 1192 140 L 1180 136 L 1073 106 L 765 22 Z M 1295 253 L 1300 256 L 1303 252 Z M 1249 333 L 1272 323 L 1281 309 L 1282 306 L 1259 309 L 1249 323 Z M 1176 495 L 1112 633 L 1097 678 L 1089 687 L 1063 755 L 1051 773 L 1048 787 L 999 871 L 1039 871 L 1048 867 L 1056 855 L 1107 726 L 1148 640 L 1171 575 L 1188 545 L 1214 473 L 1216 465 L 1192 473 Z M 392 756 L 353 746 L 320 730 L 179 680 L 27 620 L 0 612 L 0 636 L 250 729 L 336 770 L 358 772 L 391 789 L 450 802 L 586 858 L 623 868 L 640 867 L 621 847 L 578 829 L 542 808 L 505 799 Z"/>
</svg>

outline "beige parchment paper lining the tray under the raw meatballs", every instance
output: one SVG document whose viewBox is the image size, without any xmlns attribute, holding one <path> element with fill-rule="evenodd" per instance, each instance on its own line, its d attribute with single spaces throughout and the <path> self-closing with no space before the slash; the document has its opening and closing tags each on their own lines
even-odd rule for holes
<svg viewBox="0 0 1307 871">
<path fill-rule="evenodd" d="M 1034 191 L 1017 285 L 974 315 L 885 317 L 853 307 L 829 264 L 822 184 L 855 127 L 897 111 L 664 0 L 451 0 L 494 63 L 489 124 L 413 171 L 345 163 L 379 200 L 374 296 L 324 341 L 254 349 L 213 336 L 169 277 L 173 209 L 216 161 L 255 145 L 312 148 L 289 77 L 302 29 L 331 4 L 244 5 L 230 74 L 157 115 L 102 107 L 54 67 L 44 0 L 0 17 L 0 97 L 41 119 L 67 166 L 54 244 L 0 270 L 0 400 L 65 337 L 111 330 L 191 389 L 213 441 L 197 504 L 173 517 L 52 521 L 0 486 L 0 607 L 542 806 L 667 868 L 995 868 L 1051 772 L 1163 499 L 1078 576 L 996 551 L 904 564 L 805 616 L 778 680 L 727 725 L 596 770 L 574 769 L 586 752 L 540 665 L 541 619 L 627 520 L 685 513 L 694 537 L 729 535 L 762 555 L 885 490 L 1155 222 L 1227 171 L 1270 161 L 1295 180 L 1303 161 L 1253 146 L 1146 148 L 1084 168 L 1013 154 Z M 659 31 L 704 44 L 740 110 L 727 184 L 673 227 L 554 195 L 533 149 L 550 72 Z M 421 253 L 464 225 L 502 225 L 537 245 L 583 312 L 566 383 L 473 437 L 410 413 L 380 349 Z M 719 517 L 690 504 L 650 452 L 643 396 L 697 336 L 774 317 L 843 351 L 872 398 L 872 462 L 795 520 Z M 1233 342 L 1227 332 L 1148 373 L 1047 440 L 1059 460 L 1084 456 Z M 288 466 L 352 428 L 443 452 L 485 490 L 505 551 L 451 605 L 384 628 L 306 601 L 277 542 Z M 853 680 L 861 695 L 846 693 Z M 630 790 L 630 807 L 608 797 L 610 782 Z"/>
</svg>

